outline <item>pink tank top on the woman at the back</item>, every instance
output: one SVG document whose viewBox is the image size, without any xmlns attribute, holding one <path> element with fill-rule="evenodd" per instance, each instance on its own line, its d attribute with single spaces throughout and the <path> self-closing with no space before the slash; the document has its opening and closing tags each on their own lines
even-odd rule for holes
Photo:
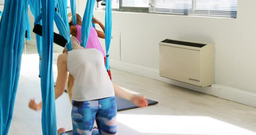
<svg viewBox="0 0 256 135">
<path fill-rule="evenodd" d="M 82 29 L 82 26 L 75 25 L 75 27 L 77 28 L 76 39 L 81 44 L 81 42 L 82 42 L 82 40 L 81 40 L 81 36 L 82 36 L 81 29 Z M 102 52 L 102 55 L 104 57 L 106 57 L 105 52 L 104 52 L 104 50 L 102 48 L 102 45 L 100 44 L 100 42 L 98 40 L 98 34 L 97 34 L 96 30 L 93 27 L 91 27 L 91 29 L 90 29 L 89 38 L 88 38 L 88 42 L 87 42 L 86 48 L 98 49 L 99 51 Z"/>
</svg>

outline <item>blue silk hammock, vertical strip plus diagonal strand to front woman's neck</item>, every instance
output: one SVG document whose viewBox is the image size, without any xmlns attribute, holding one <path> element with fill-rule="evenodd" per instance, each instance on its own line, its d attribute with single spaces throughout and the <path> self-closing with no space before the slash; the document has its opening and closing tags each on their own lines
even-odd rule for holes
<svg viewBox="0 0 256 135">
<path fill-rule="evenodd" d="M 48 2 L 47 2 L 48 1 Z M 55 5 L 55 6 L 54 6 Z M 72 49 L 69 37 L 69 23 L 67 18 L 66 0 L 43 0 L 42 13 L 37 17 L 35 24 L 42 19 L 42 60 L 40 65 L 41 92 L 42 92 L 42 130 L 43 135 L 56 135 L 55 95 L 53 87 L 53 20 L 59 33 L 68 41 L 67 48 Z"/>
</svg>

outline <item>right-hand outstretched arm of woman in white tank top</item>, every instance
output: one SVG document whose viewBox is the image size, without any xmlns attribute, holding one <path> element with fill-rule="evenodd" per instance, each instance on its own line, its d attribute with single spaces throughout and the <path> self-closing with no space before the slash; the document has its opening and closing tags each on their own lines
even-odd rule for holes
<svg viewBox="0 0 256 135">
<path fill-rule="evenodd" d="M 147 107 L 148 106 L 148 100 L 145 96 L 136 96 L 131 93 L 126 92 L 125 90 L 121 89 L 119 86 L 113 84 L 115 95 L 120 96 L 121 98 L 124 98 L 126 100 L 131 101 L 135 105 L 139 107 Z"/>
</svg>

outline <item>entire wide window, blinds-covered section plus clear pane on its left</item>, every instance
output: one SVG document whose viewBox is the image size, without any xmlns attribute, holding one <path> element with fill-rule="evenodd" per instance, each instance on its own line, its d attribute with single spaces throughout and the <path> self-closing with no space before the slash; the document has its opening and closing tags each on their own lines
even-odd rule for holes
<svg viewBox="0 0 256 135">
<path fill-rule="evenodd" d="M 104 9 L 96 3 L 98 9 Z M 118 11 L 236 18 L 237 0 L 112 0 Z"/>
</svg>

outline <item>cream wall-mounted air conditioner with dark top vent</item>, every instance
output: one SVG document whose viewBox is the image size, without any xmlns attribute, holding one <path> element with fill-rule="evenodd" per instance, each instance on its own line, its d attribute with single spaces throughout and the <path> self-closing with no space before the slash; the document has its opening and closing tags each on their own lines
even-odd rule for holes
<svg viewBox="0 0 256 135">
<path fill-rule="evenodd" d="M 161 77 L 200 87 L 213 84 L 213 45 L 165 39 L 159 49 Z"/>
</svg>

